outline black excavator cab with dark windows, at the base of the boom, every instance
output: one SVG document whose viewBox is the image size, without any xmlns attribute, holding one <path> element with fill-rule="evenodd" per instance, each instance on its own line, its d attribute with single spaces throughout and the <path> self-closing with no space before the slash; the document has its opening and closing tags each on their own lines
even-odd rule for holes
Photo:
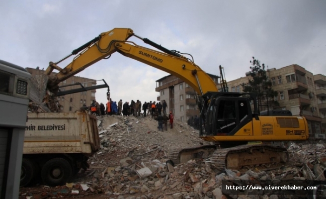
<svg viewBox="0 0 326 199">
<path fill-rule="evenodd" d="M 258 118 L 254 93 L 209 92 L 203 98 L 207 111 L 200 115 L 204 124 L 201 136 L 234 135 L 252 117 Z"/>
</svg>

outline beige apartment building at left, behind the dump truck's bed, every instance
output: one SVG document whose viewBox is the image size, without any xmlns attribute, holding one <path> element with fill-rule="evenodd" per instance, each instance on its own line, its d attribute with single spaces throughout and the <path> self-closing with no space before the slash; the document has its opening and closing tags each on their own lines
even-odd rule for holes
<svg viewBox="0 0 326 199">
<path fill-rule="evenodd" d="M 39 67 L 36 69 L 33 68 L 26 68 L 26 70 L 34 77 L 35 75 L 40 75 L 44 73 L 44 70 L 40 70 Z M 56 73 L 54 73 L 56 74 Z M 84 87 L 90 87 L 96 85 L 96 80 L 83 78 L 79 76 L 73 76 L 59 84 L 59 86 L 70 85 L 75 83 L 81 83 Z M 71 89 L 79 89 L 81 86 L 69 86 L 61 88 L 61 91 L 67 91 Z M 62 105 L 61 111 L 62 112 L 75 112 L 76 110 L 80 109 L 80 107 L 85 103 L 89 106 L 92 100 L 95 100 L 95 93 L 96 90 L 90 90 L 75 94 L 69 94 L 65 96 L 58 97 L 59 103 Z M 106 101 L 104 101 L 106 102 Z"/>
</svg>

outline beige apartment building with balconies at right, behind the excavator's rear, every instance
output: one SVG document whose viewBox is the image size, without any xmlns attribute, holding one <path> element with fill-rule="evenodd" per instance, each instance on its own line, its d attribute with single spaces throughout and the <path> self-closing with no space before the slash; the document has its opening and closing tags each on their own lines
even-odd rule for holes
<svg viewBox="0 0 326 199">
<path fill-rule="evenodd" d="M 230 92 L 243 92 L 246 77 L 228 82 Z M 305 68 L 293 64 L 280 69 L 267 70 L 272 89 L 278 93 L 274 100 L 279 102 L 274 109 L 287 109 L 293 115 L 307 118 L 309 133 L 315 138 L 326 139 L 326 76 L 313 75 Z"/>
</svg>

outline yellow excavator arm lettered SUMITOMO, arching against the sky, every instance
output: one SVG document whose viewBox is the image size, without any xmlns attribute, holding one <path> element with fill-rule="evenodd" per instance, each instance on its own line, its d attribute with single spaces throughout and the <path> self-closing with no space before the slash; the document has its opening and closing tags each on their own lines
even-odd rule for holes
<svg viewBox="0 0 326 199">
<path fill-rule="evenodd" d="M 62 69 L 57 64 L 71 55 L 57 63 L 50 62 L 45 72 L 46 75 L 51 75 L 54 69 L 59 70 L 59 73 L 50 78 L 48 83 L 49 89 L 56 88 L 60 82 L 76 75 L 99 60 L 107 59 L 113 53 L 119 52 L 126 57 L 138 60 L 182 79 L 194 88 L 200 96 L 208 91 L 218 91 L 214 81 L 190 59 L 137 35 L 135 35 L 137 38 L 141 38 L 145 43 L 157 47 L 163 52 L 145 48 L 134 42 L 127 41 L 133 35 L 135 34 L 131 29 L 115 28 L 101 33 L 99 37 L 74 50 L 71 55 L 79 51 L 81 53 L 65 68 Z"/>
</svg>

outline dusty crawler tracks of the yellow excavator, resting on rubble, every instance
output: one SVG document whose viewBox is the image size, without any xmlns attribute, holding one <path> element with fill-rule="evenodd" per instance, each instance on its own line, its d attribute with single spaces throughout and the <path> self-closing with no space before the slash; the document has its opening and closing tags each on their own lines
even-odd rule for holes
<svg viewBox="0 0 326 199">
<path fill-rule="evenodd" d="M 169 159 L 175 164 L 185 163 L 195 158 L 210 157 L 211 166 L 223 169 L 270 170 L 284 165 L 289 155 L 285 148 L 271 145 L 240 145 L 230 148 L 218 148 L 216 145 L 194 146 L 184 149 L 174 149 L 169 153 Z"/>
</svg>

